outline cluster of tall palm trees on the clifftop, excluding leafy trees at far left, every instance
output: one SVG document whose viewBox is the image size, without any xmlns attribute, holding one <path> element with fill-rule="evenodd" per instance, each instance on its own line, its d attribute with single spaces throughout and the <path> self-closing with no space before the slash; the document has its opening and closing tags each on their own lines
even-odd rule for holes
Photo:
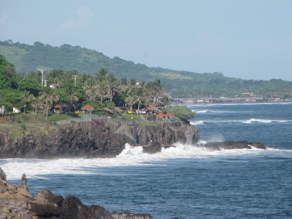
<svg viewBox="0 0 292 219">
<path fill-rule="evenodd" d="M 41 72 L 29 72 L 27 77 L 41 84 Z M 121 102 L 127 104 L 131 110 L 133 107 L 138 107 L 139 110 L 142 104 L 156 103 L 158 97 L 160 105 L 170 103 L 168 97 L 164 96 L 164 83 L 160 79 L 148 83 L 136 79 L 118 79 L 103 67 L 97 69 L 94 75 L 85 72 L 79 74 L 76 70 L 64 72 L 62 69 L 53 69 L 45 72 L 44 81 L 46 87 L 42 87 L 38 97 L 29 94 L 29 91 L 22 91 L 25 107 L 27 102 L 31 102 L 34 109 L 42 108 L 48 114 L 54 104 L 61 104 L 65 111 L 70 112 L 76 109 L 76 104 L 80 107 L 86 100 L 100 101 L 102 104 L 105 101 L 120 101 L 119 96 L 123 97 Z M 50 88 L 50 84 L 54 84 L 57 89 Z"/>
</svg>

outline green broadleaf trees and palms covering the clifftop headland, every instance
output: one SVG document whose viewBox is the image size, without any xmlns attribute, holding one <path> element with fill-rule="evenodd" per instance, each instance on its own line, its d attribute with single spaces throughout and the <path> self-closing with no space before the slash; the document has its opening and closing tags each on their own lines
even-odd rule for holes
<svg viewBox="0 0 292 219">
<path fill-rule="evenodd" d="M 104 115 L 115 105 L 140 109 L 149 103 L 160 104 L 158 97 L 164 97 L 164 83 L 160 79 L 148 83 L 126 77 L 118 79 L 104 67 L 96 69 L 94 75 L 79 74 L 76 69 L 52 69 L 43 75 L 37 70 L 24 76 L 16 73 L 15 67 L 0 55 L 0 70 L 0 106 L 4 106 L 3 117 L 4 111 L 8 112 L 7 118 L 13 108 L 21 109 L 23 114 L 28 108 L 34 114 L 42 109 L 47 120 L 54 108 L 70 113 L 86 105 L 94 107 L 94 114 Z M 40 78 L 46 81 L 43 83 L 46 86 L 41 86 Z"/>
</svg>

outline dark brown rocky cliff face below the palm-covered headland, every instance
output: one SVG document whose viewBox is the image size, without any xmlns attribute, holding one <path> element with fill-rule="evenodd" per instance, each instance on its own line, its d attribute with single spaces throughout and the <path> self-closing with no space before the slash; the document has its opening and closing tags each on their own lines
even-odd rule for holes
<svg viewBox="0 0 292 219">
<path fill-rule="evenodd" d="M 198 128 L 180 122 L 121 125 L 93 119 L 60 126 L 0 129 L 0 158 L 115 157 L 125 143 L 153 153 L 175 142 L 195 144 Z"/>
</svg>

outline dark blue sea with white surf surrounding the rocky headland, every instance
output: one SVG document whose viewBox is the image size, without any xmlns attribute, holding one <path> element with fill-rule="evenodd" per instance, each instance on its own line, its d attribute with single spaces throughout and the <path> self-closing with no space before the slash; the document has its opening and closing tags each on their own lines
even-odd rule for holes
<svg viewBox="0 0 292 219">
<path fill-rule="evenodd" d="M 83 204 L 153 218 L 292 218 L 292 104 L 192 105 L 200 142 L 259 141 L 275 149 L 210 151 L 192 145 L 157 154 L 130 147 L 113 159 L 0 160 L 8 181 L 26 173 Z M 277 148 L 277 149 L 276 149 Z"/>
</svg>

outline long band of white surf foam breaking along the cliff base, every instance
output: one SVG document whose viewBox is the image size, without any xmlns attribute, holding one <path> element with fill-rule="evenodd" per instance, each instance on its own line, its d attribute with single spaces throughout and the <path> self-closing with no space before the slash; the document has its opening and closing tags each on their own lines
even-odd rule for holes
<svg viewBox="0 0 292 219">
<path fill-rule="evenodd" d="M 200 143 L 206 143 L 202 141 Z M 46 174 L 99 174 L 106 167 L 115 166 L 141 166 L 141 165 L 164 165 L 157 164 L 159 161 L 177 158 L 209 159 L 214 156 L 241 156 L 241 155 L 275 155 L 281 154 L 292 156 L 292 150 L 221 150 L 213 151 L 205 147 L 195 147 L 176 143 L 174 147 L 162 148 L 161 152 L 155 154 L 144 153 L 141 146 L 131 147 L 126 144 L 125 149 L 116 158 L 105 159 L 3 159 L 0 166 L 7 175 L 8 180 L 20 179 L 22 173 L 27 178 L 45 178 Z"/>
</svg>

